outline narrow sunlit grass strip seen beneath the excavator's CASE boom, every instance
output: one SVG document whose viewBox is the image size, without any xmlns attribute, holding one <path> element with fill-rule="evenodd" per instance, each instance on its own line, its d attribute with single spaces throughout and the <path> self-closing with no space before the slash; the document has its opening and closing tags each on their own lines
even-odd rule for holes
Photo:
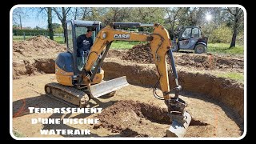
<svg viewBox="0 0 256 144">
<path fill-rule="evenodd" d="M 146 42 L 124 42 L 124 41 L 114 41 L 112 42 L 110 49 L 118 49 L 118 50 L 125 50 L 125 49 L 130 49 L 135 45 L 144 43 Z"/>
</svg>

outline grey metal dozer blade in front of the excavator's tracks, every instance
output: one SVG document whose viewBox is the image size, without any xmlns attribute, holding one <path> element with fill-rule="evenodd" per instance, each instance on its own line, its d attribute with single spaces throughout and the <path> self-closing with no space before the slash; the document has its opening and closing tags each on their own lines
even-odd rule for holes
<svg viewBox="0 0 256 144">
<path fill-rule="evenodd" d="M 98 98 L 104 94 L 108 94 L 114 90 L 118 90 L 123 86 L 128 86 L 129 83 L 126 80 L 126 76 L 120 78 L 114 78 L 110 81 L 98 83 L 96 85 L 90 86 L 90 95 L 92 98 Z"/>
</svg>

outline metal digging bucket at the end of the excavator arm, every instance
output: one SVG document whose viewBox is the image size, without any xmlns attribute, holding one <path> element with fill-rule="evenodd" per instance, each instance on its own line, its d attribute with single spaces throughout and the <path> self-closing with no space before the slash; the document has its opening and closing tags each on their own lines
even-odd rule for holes
<svg viewBox="0 0 256 144">
<path fill-rule="evenodd" d="M 184 123 L 178 120 L 173 120 L 173 123 L 170 126 L 169 130 L 166 130 L 167 137 L 184 137 L 184 135 L 186 134 L 186 130 L 191 122 L 191 115 L 188 112 L 184 111 L 184 116 L 186 118 L 186 122 Z"/>
</svg>

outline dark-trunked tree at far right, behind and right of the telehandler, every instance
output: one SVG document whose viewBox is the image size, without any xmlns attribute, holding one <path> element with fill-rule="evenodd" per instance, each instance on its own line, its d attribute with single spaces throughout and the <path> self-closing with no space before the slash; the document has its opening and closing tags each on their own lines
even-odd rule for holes
<svg viewBox="0 0 256 144">
<path fill-rule="evenodd" d="M 232 40 L 230 43 L 230 48 L 235 46 L 235 41 L 238 35 L 238 28 L 241 26 L 242 19 L 243 19 L 243 11 L 241 8 L 238 7 L 228 7 L 227 10 L 231 14 L 231 23 L 233 25 L 233 35 Z"/>
</svg>

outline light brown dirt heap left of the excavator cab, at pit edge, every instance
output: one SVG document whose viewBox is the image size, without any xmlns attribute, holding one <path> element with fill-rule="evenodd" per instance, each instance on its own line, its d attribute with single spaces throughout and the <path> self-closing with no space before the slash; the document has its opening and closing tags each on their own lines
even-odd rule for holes
<svg viewBox="0 0 256 144">
<path fill-rule="evenodd" d="M 66 46 L 44 36 L 36 36 L 26 41 L 13 42 L 13 78 L 27 74 L 54 73 L 58 53 L 66 51 Z"/>
</svg>

